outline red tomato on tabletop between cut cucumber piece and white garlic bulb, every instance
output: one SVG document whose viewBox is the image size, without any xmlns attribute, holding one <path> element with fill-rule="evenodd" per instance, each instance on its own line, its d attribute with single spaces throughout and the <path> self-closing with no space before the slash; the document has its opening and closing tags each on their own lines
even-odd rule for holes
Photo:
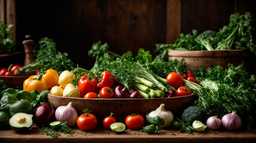
<svg viewBox="0 0 256 143">
<path fill-rule="evenodd" d="M 125 119 L 125 125 L 127 125 L 129 129 L 140 129 L 143 127 L 144 123 L 144 117 L 137 113 L 132 113 Z"/>
</svg>

